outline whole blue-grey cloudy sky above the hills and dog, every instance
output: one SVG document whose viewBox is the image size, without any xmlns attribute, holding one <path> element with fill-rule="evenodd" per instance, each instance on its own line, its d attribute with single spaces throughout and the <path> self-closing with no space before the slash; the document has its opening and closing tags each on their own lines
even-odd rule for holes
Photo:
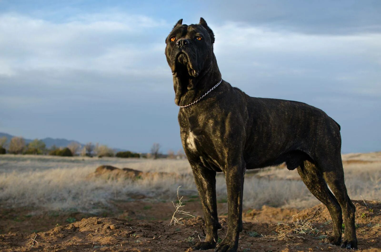
<svg viewBox="0 0 381 252">
<path fill-rule="evenodd" d="M 181 148 L 164 55 L 178 19 L 215 32 L 223 79 L 341 124 L 381 150 L 381 2 L 0 0 L 0 132 L 146 152 Z"/>
</svg>

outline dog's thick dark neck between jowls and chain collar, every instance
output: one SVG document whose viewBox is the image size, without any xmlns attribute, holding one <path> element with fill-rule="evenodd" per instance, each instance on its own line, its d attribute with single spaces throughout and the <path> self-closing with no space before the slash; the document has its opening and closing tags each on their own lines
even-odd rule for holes
<svg viewBox="0 0 381 252">
<path fill-rule="evenodd" d="M 208 92 L 220 80 L 221 72 L 219 72 L 216 57 L 213 53 L 211 63 L 204 67 L 197 77 L 191 77 L 187 74 L 173 76 L 175 103 L 179 106 L 191 104 Z"/>
</svg>

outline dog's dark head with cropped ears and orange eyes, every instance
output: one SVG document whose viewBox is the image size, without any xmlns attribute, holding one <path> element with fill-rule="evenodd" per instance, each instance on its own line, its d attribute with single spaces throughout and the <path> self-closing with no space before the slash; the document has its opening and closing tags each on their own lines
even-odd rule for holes
<svg viewBox="0 0 381 252">
<path fill-rule="evenodd" d="M 182 24 L 180 19 L 165 39 L 165 56 L 174 77 L 197 78 L 213 60 L 213 31 L 200 18 L 199 24 Z"/>
</svg>

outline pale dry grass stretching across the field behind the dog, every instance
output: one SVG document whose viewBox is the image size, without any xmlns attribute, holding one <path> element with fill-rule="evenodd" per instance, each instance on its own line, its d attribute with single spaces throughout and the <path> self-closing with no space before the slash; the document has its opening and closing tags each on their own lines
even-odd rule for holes
<svg viewBox="0 0 381 252">
<path fill-rule="evenodd" d="M 381 156 L 381 155 L 380 155 Z M 359 158 L 357 156 L 357 158 Z M 372 157 L 372 161 L 375 157 Z M 175 172 L 138 180 L 86 179 L 99 165 L 129 167 L 140 171 Z M 346 185 L 352 199 L 381 200 L 381 162 L 344 166 Z M 274 176 L 268 176 L 268 175 Z M 285 175 L 287 174 L 287 176 Z M 291 179 L 290 179 L 291 177 Z M 244 207 L 310 207 L 319 201 L 311 195 L 296 171 L 270 167 L 245 176 Z M 149 200 L 171 200 L 182 185 L 182 195 L 197 195 L 191 168 L 186 160 L 62 158 L 33 155 L 0 157 L 0 206 L 43 206 L 47 210 L 77 209 L 97 212 L 110 201 L 130 200 L 144 195 Z M 226 199 L 223 174 L 216 178 L 218 199 Z"/>
</svg>

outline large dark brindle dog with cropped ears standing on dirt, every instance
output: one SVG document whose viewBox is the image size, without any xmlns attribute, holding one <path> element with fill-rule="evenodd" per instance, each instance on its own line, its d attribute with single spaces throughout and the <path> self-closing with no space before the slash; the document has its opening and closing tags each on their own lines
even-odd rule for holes
<svg viewBox="0 0 381 252">
<path fill-rule="evenodd" d="M 177 105 L 191 104 L 221 80 L 214 42 L 203 18 L 189 26 L 180 19 L 166 38 L 165 55 L 173 73 Z M 222 81 L 198 102 L 180 108 L 178 119 L 206 225 L 205 241 L 193 249 L 216 247 L 221 228 L 216 172 L 226 176 L 229 212 L 226 236 L 215 251 L 236 251 L 242 231 L 245 170 L 283 162 L 288 169 L 297 169 L 311 193 L 327 206 L 333 220 L 329 242 L 357 248 L 355 206 L 344 184 L 340 126 L 322 110 L 291 100 L 250 97 Z"/>
</svg>

